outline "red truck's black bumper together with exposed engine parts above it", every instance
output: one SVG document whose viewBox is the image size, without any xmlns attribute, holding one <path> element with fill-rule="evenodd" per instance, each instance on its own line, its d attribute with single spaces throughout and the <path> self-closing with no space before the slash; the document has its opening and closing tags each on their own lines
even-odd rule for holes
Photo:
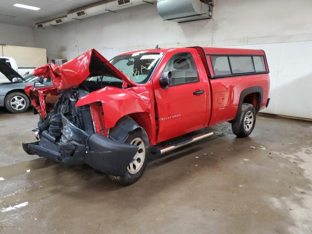
<svg viewBox="0 0 312 234">
<path fill-rule="evenodd" d="M 100 172 L 119 176 L 138 147 L 95 133 L 90 106 L 76 107 L 78 99 L 87 94 L 86 90 L 72 88 L 62 92 L 55 104 L 46 103 L 50 111 L 40 118 L 33 131 L 38 141 L 23 143 L 23 149 L 29 155 L 66 165 L 87 163 Z"/>
</svg>

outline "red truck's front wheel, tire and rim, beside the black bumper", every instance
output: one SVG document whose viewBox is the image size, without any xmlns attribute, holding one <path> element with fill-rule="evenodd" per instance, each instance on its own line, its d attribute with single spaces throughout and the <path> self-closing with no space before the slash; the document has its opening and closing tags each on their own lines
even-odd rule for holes
<svg viewBox="0 0 312 234">
<path fill-rule="evenodd" d="M 109 175 L 108 177 L 111 180 L 122 185 L 130 185 L 137 182 L 137 180 L 142 176 L 147 165 L 146 156 L 149 148 L 149 142 L 147 139 L 147 134 L 142 129 L 129 133 L 125 143 L 137 145 L 137 154 L 133 157 L 127 168 L 125 168 L 124 174 L 122 176 Z"/>
</svg>

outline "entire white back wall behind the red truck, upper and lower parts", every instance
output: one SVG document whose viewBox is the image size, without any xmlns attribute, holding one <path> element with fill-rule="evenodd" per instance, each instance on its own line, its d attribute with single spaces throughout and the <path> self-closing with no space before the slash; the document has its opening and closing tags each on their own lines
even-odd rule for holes
<svg viewBox="0 0 312 234">
<path fill-rule="evenodd" d="M 215 0 L 214 20 L 163 21 L 156 5 L 143 4 L 34 29 L 48 59 L 72 59 L 90 48 L 108 59 L 124 51 L 161 47 L 260 48 L 271 70 L 271 105 L 265 112 L 312 118 L 312 0 Z"/>
</svg>

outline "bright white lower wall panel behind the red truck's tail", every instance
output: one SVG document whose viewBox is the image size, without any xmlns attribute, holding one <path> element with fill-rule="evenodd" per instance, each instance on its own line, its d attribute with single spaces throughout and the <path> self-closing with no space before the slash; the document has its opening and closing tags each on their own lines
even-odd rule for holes
<svg viewBox="0 0 312 234">
<path fill-rule="evenodd" d="M 312 118 L 312 40 L 229 46 L 263 49 L 271 78 L 271 102 L 265 113 Z"/>
</svg>

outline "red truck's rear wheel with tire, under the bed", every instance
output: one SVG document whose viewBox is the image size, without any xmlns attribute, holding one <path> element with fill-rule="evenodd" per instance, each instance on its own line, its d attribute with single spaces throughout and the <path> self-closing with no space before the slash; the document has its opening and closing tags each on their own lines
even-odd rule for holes
<svg viewBox="0 0 312 234">
<path fill-rule="evenodd" d="M 240 115 L 232 121 L 232 131 L 237 137 L 248 137 L 254 130 L 256 112 L 254 106 L 243 103 Z"/>
</svg>

